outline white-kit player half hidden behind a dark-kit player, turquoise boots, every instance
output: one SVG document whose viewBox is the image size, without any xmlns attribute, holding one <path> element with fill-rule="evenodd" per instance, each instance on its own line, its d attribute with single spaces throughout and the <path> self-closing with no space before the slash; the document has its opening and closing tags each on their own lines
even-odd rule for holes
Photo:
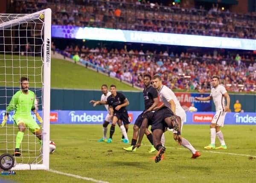
<svg viewBox="0 0 256 183">
<path fill-rule="evenodd" d="M 102 102 L 106 102 L 107 98 L 111 95 L 111 92 L 108 91 L 108 86 L 103 84 L 102 87 L 102 96 L 100 101 L 91 100 L 90 103 L 93 103 L 93 107 L 96 105 L 103 105 Z M 105 117 L 105 121 L 103 123 L 103 137 L 98 140 L 98 142 L 106 142 L 107 141 L 107 131 L 108 131 L 108 124 L 112 123 L 113 116 L 110 115 L 108 105 L 105 105 L 105 108 L 108 111 L 108 114 Z"/>
</svg>

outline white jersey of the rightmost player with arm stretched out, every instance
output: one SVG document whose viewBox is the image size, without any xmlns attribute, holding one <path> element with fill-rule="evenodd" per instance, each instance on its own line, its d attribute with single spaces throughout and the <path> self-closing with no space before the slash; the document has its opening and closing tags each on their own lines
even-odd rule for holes
<svg viewBox="0 0 256 183">
<path fill-rule="evenodd" d="M 218 85 L 216 88 L 211 89 L 210 96 L 215 104 L 216 111 L 224 111 L 226 104 L 225 104 L 225 97 L 224 94 L 227 93 L 227 90 L 224 86 Z"/>
</svg>

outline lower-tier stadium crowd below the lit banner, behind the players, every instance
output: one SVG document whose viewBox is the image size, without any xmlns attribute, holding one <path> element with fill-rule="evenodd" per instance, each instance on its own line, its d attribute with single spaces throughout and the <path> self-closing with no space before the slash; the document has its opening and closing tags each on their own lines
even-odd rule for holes
<svg viewBox="0 0 256 183">
<path fill-rule="evenodd" d="M 104 68 L 112 77 L 143 87 L 143 74 L 160 74 L 171 89 L 208 92 L 212 75 L 221 77 L 228 91 L 256 91 L 256 57 L 252 55 L 221 55 L 167 51 L 145 51 L 67 46 L 66 56 L 79 53 L 92 66 Z"/>
</svg>

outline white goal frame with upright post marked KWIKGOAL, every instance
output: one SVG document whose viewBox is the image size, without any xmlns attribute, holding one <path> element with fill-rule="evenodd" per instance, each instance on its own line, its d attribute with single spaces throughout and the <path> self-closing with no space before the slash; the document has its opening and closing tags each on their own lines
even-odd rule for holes
<svg viewBox="0 0 256 183">
<path fill-rule="evenodd" d="M 49 133 L 50 133 L 50 73 L 51 73 L 51 9 L 44 9 L 33 14 L 5 14 L 7 17 L 12 17 L 9 21 L 0 23 L 0 29 L 6 29 L 11 26 L 16 26 L 22 21 L 29 21 L 31 18 L 44 15 L 44 55 L 43 56 L 43 99 L 42 99 L 42 117 L 43 117 L 43 145 L 42 145 L 42 163 L 41 164 L 16 164 L 12 170 L 49 170 Z M 39 16 L 38 16 L 39 15 Z M 41 32 L 42 34 L 42 32 Z"/>
</svg>

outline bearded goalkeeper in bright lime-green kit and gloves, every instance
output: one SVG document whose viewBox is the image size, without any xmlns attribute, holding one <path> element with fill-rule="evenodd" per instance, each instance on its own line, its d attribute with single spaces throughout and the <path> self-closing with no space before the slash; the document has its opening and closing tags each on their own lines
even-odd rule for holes
<svg viewBox="0 0 256 183">
<path fill-rule="evenodd" d="M 18 126 L 19 132 L 16 136 L 16 145 L 14 156 L 20 156 L 20 143 L 22 142 L 25 129 L 28 128 L 30 132 L 36 135 L 39 139 L 39 143 L 42 143 L 42 130 L 35 122 L 31 115 L 31 110 L 35 113 L 38 121 L 43 122 L 42 118 L 35 109 L 35 93 L 29 90 L 29 79 L 26 77 L 20 78 L 20 91 L 16 92 L 8 107 L 6 108 L 6 114 L 3 118 L 1 126 L 5 126 L 9 112 L 14 110 L 13 120 L 16 126 Z"/>
</svg>

